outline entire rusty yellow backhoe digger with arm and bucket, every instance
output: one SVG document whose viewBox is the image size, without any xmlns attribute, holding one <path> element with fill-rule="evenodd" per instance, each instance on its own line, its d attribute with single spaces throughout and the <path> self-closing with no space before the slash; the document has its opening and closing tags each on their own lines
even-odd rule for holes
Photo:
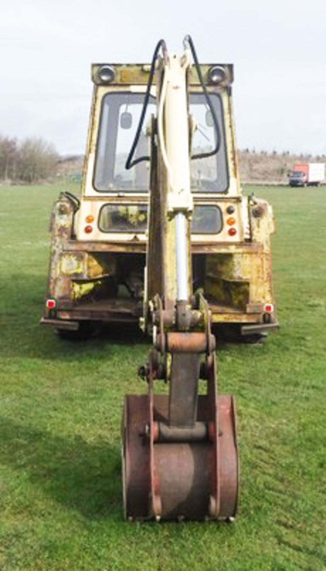
<svg viewBox="0 0 326 571">
<path fill-rule="evenodd" d="M 92 75 L 81 201 L 66 192 L 55 204 L 42 322 L 79 332 L 140 317 L 152 337 L 148 393 L 124 402 L 125 518 L 231 520 L 235 401 L 218 395 L 211 327 L 277 327 L 272 211 L 241 193 L 233 67 L 199 65 L 188 35 L 181 55 L 161 40 L 150 65 Z M 168 394 L 154 393 L 160 381 Z"/>
</svg>

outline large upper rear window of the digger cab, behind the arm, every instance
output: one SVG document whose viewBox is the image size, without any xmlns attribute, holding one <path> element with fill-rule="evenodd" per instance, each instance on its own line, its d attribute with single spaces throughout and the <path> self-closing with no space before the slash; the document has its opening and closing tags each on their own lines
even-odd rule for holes
<svg viewBox="0 0 326 571">
<path fill-rule="evenodd" d="M 191 191 L 221 193 L 226 192 L 229 186 L 223 107 L 218 94 L 211 93 L 210 97 L 219 123 L 221 144 L 217 154 L 191 160 Z M 135 139 L 143 102 L 142 93 L 116 92 L 104 96 L 96 146 L 93 179 L 95 190 L 99 192 L 149 190 L 149 161 L 139 162 L 129 170 L 125 168 Z M 190 94 L 189 111 L 197 124 L 192 138 L 191 154 L 200 155 L 214 150 L 217 134 L 204 94 Z M 153 96 L 150 96 L 146 109 L 135 159 L 149 156 L 149 137 L 145 131 L 151 115 L 156 115 L 156 99 Z"/>
</svg>

